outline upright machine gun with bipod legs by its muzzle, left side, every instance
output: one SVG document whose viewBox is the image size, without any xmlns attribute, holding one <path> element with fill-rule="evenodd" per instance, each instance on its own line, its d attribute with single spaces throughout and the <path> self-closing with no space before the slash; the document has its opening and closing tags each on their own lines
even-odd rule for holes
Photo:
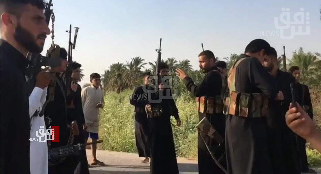
<svg viewBox="0 0 321 174">
<path fill-rule="evenodd" d="M 75 27 L 74 42 L 71 42 L 71 24 L 69 25 L 69 31 L 68 30 L 66 31 L 69 33 L 69 44 L 68 44 L 68 64 L 69 64 L 69 66 L 67 67 L 67 70 L 66 70 L 67 95 L 70 93 L 70 90 L 71 90 L 71 81 L 72 81 L 71 74 L 73 72 L 71 64 L 73 63 L 73 50 L 76 47 L 78 30 L 79 30 L 79 27 Z"/>
</svg>

